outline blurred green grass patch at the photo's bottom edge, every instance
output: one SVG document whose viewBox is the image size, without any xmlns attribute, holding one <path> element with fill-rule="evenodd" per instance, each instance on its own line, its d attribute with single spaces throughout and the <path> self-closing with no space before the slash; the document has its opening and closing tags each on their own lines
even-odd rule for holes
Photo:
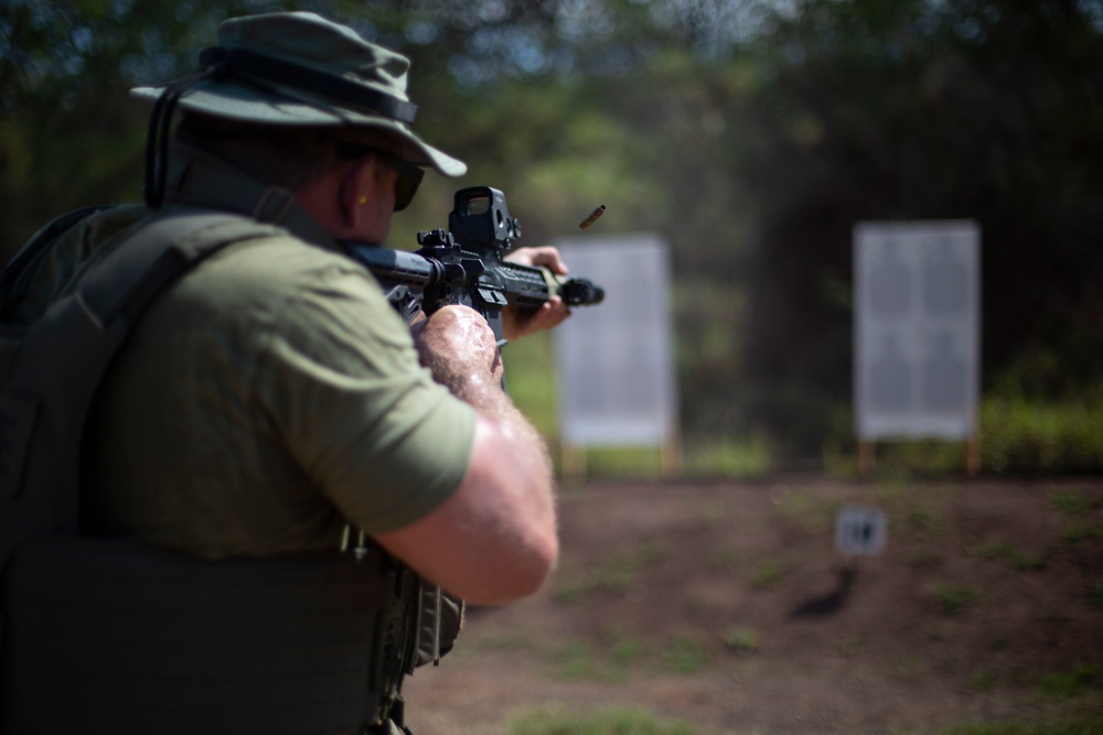
<svg viewBox="0 0 1103 735">
<path fill-rule="evenodd" d="M 516 717 L 510 735 L 703 735 L 685 723 L 640 710 L 535 710 Z"/>
</svg>

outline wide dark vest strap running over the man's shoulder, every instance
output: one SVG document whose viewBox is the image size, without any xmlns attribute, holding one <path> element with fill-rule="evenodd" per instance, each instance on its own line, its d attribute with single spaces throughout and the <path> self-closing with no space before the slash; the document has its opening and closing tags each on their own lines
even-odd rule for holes
<svg viewBox="0 0 1103 735">
<path fill-rule="evenodd" d="M 211 253 L 282 231 L 225 213 L 163 216 L 93 266 L 19 337 L 0 391 L 0 502 L 19 506 L 0 517 L 0 568 L 33 533 L 77 530 L 88 408 L 143 310 Z"/>
</svg>

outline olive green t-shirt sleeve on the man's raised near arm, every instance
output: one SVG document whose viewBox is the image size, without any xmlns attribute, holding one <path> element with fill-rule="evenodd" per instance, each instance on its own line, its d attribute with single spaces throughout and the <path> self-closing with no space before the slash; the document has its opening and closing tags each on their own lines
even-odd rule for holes
<svg viewBox="0 0 1103 735">
<path fill-rule="evenodd" d="M 329 269 L 291 295 L 257 376 L 270 429 L 368 533 L 428 515 L 467 474 L 474 410 L 421 367 L 365 272 Z"/>
</svg>

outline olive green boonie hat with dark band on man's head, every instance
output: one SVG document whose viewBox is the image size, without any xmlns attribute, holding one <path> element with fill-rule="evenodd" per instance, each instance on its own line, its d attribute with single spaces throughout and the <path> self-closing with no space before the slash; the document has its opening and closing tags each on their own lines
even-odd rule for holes
<svg viewBox="0 0 1103 735">
<path fill-rule="evenodd" d="M 218 45 L 200 55 L 196 80 L 178 91 L 184 110 L 259 125 L 350 126 L 389 132 L 398 158 L 462 176 L 468 166 L 410 130 L 409 60 L 310 12 L 248 15 L 218 25 Z M 172 85 L 137 87 L 159 99 Z"/>
</svg>

